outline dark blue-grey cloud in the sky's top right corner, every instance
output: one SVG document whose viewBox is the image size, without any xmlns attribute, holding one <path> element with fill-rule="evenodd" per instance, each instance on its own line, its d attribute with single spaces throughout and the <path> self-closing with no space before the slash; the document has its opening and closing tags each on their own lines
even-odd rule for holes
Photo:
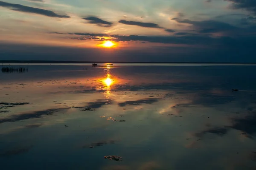
<svg viewBox="0 0 256 170">
<path fill-rule="evenodd" d="M 256 0 L 226 0 L 232 2 L 232 8 L 245 9 L 256 14 Z"/>
</svg>

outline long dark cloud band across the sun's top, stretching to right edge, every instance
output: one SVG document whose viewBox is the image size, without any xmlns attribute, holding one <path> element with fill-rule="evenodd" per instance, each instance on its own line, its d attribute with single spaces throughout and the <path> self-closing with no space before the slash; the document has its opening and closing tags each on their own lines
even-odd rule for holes
<svg viewBox="0 0 256 170">
<path fill-rule="evenodd" d="M 217 28 L 213 28 L 212 31 L 216 31 Z M 209 30 L 208 30 L 209 31 Z M 206 29 L 200 29 L 199 32 L 207 32 Z M 253 47 L 253 44 L 256 43 L 255 36 L 241 36 L 241 37 L 212 37 L 209 34 L 186 34 L 181 33 L 177 36 L 139 36 L 139 35 L 129 35 L 129 36 L 120 36 L 120 35 L 109 35 L 109 34 L 90 34 L 90 33 L 70 33 L 73 35 L 80 35 L 81 37 L 73 37 L 76 40 L 112 40 L 115 42 L 120 41 L 142 41 L 142 42 L 157 42 L 163 44 L 184 44 L 184 45 L 226 45 L 226 48 L 232 47 Z M 112 37 L 112 39 L 104 39 L 98 37 Z"/>
</svg>

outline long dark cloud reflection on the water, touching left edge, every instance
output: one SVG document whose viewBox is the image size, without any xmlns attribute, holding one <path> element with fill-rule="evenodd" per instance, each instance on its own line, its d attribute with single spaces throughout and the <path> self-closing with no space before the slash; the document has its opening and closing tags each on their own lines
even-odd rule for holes
<svg viewBox="0 0 256 170">
<path fill-rule="evenodd" d="M 0 123 L 17 122 L 17 121 L 20 121 L 20 120 L 40 118 L 41 116 L 51 115 L 51 114 L 53 114 L 55 112 L 64 111 L 64 110 L 67 110 L 67 108 L 48 109 L 48 110 L 44 110 L 44 111 L 35 111 L 35 112 L 32 112 L 32 113 L 14 114 L 14 115 L 11 115 L 11 116 L 9 116 L 7 118 L 0 119 Z"/>
</svg>

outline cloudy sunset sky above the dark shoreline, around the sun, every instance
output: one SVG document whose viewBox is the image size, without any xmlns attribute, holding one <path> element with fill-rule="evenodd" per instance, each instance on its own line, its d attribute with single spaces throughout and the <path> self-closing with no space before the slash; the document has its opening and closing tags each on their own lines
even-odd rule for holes
<svg viewBox="0 0 256 170">
<path fill-rule="evenodd" d="M 0 23 L 0 60 L 256 62 L 256 0 L 0 0 Z"/>
</svg>

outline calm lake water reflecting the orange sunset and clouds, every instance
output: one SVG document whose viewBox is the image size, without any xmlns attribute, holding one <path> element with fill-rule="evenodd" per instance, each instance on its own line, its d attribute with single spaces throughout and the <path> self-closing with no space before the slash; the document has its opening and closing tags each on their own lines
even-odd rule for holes
<svg viewBox="0 0 256 170">
<path fill-rule="evenodd" d="M 256 169 L 255 65 L 114 65 L 0 73 L 1 169 Z"/>
</svg>

